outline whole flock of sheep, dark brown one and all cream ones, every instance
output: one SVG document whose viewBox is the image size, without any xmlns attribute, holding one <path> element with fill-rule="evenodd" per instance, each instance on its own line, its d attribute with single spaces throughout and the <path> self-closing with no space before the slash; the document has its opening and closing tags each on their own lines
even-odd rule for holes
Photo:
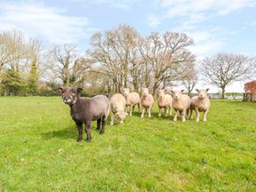
<svg viewBox="0 0 256 192">
<path fill-rule="evenodd" d="M 81 141 L 83 138 L 83 123 L 86 125 L 87 141 L 90 141 L 90 124 L 92 120 L 97 120 L 97 130 L 100 134 L 104 134 L 104 126 L 110 111 L 111 125 L 114 124 L 115 117 L 118 117 L 120 123 L 123 122 L 127 114 L 126 107 L 130 116 L 132 116 L 136 105 L 139 112 L 141 112 L 141 118 L 144 118 L 145 112 L 148 112 L 149 118 L 151 118 L 154 99 L 150 94 L 149 88 L 142 89 L 141 97 L 136 92 L 130 92 L 129 88 L 123 88 L 123 95 L 120 93 L 114 94 L 110 100 L 104 95 L 82 98 L 79 96 L 82 88 L 58 88 L 58 90 L 62 94 L 63 102 L 71 107 L 72 120 L 74 120 L 78 131 L 77 141 Z M 198 95 L 192 98 L 184 94 L 184 90 L 171 90 L 172 97 L 166 93 L 165 89 L 157 90 L 158 116 L 161 117 L 163 108 L 165 109 L 166 117 L 168 115 L 171 116 L 171 108 L 173 108 L 173 120 L 177 120 L 179 112 L 181 120 L 185 121 L 192 119 L 192 113 L 195 110 L 196 121 L 200 120 L 200 111 L 203 112 L 203 121 L 206 121 L 211 105 L 207 97 L 209 88 L 196 90 Z"/>
</svg>

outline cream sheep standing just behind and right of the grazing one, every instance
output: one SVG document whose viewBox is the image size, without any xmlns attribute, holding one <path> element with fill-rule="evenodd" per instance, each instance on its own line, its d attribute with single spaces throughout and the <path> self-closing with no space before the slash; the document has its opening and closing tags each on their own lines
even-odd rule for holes
<svg viewBox="0 0 256 192">
<path fill-rule="evenodd" d="M 130 116 L 133 115 L 133 111 L 135 110 L 136 104 L 138 107 L 138 112 L 140 112 L 141 102 L 140 102 L 139 94 L 136 92 L 130 92 L 129 88 L 123 88 L 123 94 L 125 97 L 126 106 L 129 107 Z"/>
</svg>

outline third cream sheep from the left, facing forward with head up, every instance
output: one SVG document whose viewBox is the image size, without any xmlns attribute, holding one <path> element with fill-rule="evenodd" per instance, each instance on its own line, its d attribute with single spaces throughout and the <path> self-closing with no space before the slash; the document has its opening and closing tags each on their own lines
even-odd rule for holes
<svg viewBox="0 0 256 192">
<path fill-rule="evenodd" d="M 152 104 L 153 104 L 153 97 L 152 97 L 152 94 L 150 94 L 149 88 L 142 88 L 142 97 L 141 97 L 142 113 L 141 113 L 141 118 L 144 117 L 145 111 L 149 112 L 149 118 L 152 117 Z"/>
</svg>

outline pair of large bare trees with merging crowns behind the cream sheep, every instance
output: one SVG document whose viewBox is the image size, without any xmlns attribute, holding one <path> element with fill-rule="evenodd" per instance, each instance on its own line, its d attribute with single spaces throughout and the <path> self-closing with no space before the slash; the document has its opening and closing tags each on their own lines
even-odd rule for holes
<svg viewBox="0 0 256 192">
<path fill-rule="evenodd" d="M 181 33 L 152 33 L 141 37 L 131 26 L 120 25 L 91 38 L 91 56 L 102 66 L 101 72 L 111 77 L 115 90 L 133 86 L 169 85 L 194 67 L 195 56 L 187 47 L 193 40 Z"/>
</svg>

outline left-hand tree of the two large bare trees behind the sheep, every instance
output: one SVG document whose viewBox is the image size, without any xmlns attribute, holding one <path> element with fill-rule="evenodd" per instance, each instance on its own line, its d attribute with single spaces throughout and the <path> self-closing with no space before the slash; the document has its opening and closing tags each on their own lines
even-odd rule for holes
<svg viewBox="0 0 256 192">
<path fill-rule="evenodd" d="M 127 87 L 130 67 L 136 68 L 136 41 L 139 35 L 128 25 L 95 33 L 91 38 L 91 56 L 101 64 L 103 72 L 111 76 L 116 91 Z"/>
</svg>

